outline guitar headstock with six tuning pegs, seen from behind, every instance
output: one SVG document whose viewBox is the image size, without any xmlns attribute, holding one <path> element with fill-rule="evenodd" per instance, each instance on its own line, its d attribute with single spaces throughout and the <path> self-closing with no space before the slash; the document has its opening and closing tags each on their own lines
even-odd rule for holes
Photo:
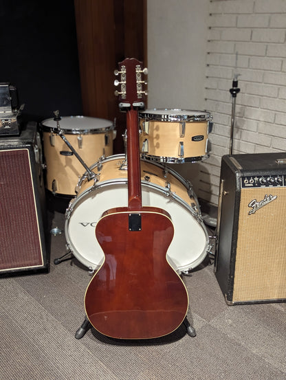
<svg viewBox="0 0 286 380">
<path fill-rule="evenodd" d="M 142 69 L 142 62 L 135 58 L 125 58 L 118 63 L 119 70 L 115 70 L 115 76 L 120 76 L 120 80 L 114 81 L 115 86 L 120 86 L 120 91 L 115 91 L 119 96 L 120 108 L 143 107 L 146 91 L 143 85 L 142 74 L 148 74 L 148 69 Z"/>
</svg>

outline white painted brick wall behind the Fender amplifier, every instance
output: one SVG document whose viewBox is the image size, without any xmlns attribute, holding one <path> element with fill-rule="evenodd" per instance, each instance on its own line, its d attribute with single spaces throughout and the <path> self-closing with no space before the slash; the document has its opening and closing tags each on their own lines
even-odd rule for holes
<svg viewBox="0 0 286 380">
<path fill-rule="evenodd" d="M 233 153 L 286 150 L 286 0 L 210 0 L 208 27 L 205 95 L 214 126 L 197 195 L 217 204 L 221 157 L 229 154 L 235 74 L 241 92 Z"/>
</svg>

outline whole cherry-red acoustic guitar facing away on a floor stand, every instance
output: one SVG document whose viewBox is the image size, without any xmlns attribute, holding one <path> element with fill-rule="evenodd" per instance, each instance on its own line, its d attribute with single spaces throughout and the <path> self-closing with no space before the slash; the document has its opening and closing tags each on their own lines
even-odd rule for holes
<svg viewBox="0 0 286 380">
<path fill-rule="evenodd" d="M 112 208 L 96 225 L 104 262 L 89 282 L 85 311 L 100 333 L 118 339 L 151 339 L 172 333 L 188 311 L 188 293 L 168 264 L 173 239 L 170 215 L 142 206 L 138 107 L 142 107 L 142 65 L 119 63 L 120 109 L 126 111 L 128 206 Z"/>
</svg>

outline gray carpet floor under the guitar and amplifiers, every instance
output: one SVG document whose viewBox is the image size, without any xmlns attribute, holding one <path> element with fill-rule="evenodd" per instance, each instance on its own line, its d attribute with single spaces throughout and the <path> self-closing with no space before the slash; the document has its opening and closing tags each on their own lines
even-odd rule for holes
<svg viewBox="0 0 286 380">
<path fill-rule="evenodd" d="M 184 276 L 196 337 L 180 326 L 150 341 L 92 328 L 75 339 L 91 278 L 76 260 L 54 265 L 64 253 L 65 234 L 52 236 L 50 273 L 0 280 L 1 380 L 286 379 L 285 303 L 227 306 L 208 262 Z"/>
</svg>

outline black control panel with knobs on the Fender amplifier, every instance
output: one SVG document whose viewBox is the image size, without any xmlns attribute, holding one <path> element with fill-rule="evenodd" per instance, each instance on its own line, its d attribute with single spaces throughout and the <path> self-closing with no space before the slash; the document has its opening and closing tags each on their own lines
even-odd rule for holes
<svg viewBox="0 0 286 380">
<path fill-rule="evenodd" d="M 286 175 L 252 175 L 241 177 L 241 188 L 270 188 L 286 186 Z"/>
</svg>

